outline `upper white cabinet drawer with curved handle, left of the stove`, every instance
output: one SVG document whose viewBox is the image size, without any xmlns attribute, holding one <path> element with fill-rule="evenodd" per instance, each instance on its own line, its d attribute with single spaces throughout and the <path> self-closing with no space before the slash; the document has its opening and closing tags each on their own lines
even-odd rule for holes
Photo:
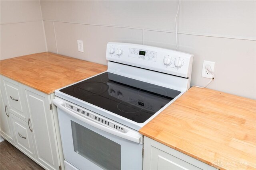
<svg viewBox="0 0 256 170">
<path fill-rule="evenodd" d="M 4 90 L 9 111 L 24 121 L 28 121 L 26 106 L 19 83 L 4 77 Z"/>
</svg>

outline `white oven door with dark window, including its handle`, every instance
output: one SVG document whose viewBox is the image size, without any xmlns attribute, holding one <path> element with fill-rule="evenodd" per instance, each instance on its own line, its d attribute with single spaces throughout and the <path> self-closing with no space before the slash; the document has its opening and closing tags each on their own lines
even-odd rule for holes
<svg viewBox="0 0 256 170">
<path fill-rule="evenodd" d="M 137 131 L 122 135 L 66 108 L 54 99 L 64 159 L 80 170 L 142 169 L 142 142 Z M 73 104 L 74 105 L 74 104 Z M 77 107 L 77 106 L 76 106 Z M 132 129 L 130 129 L 132 130 Z M 121 134 L 121 135 L 119 135 Z"/>
</svg>

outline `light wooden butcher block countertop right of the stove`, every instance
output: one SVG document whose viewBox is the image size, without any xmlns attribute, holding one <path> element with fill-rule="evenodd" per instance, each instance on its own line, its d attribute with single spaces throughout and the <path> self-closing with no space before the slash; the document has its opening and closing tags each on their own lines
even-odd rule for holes
<svg viewBox="0 0 256 170">
<path fill-rule="evenodd" d="M 256 101 L 192 87 L 140 133 L 218 169 L 256 169 Z"/>
</svg>

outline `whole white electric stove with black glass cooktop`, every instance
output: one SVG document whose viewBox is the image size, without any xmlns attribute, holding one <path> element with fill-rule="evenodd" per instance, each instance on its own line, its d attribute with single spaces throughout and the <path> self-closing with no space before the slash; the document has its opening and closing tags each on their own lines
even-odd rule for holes
<svg viewBox="0 0 256 170">
<path fill-rule="evenodd" d="M 55 91 L 65 164 L 142 169 L 138 130 L 190 87 L 193 55 L 108 43 L 108 70 Z"/>
</svg>

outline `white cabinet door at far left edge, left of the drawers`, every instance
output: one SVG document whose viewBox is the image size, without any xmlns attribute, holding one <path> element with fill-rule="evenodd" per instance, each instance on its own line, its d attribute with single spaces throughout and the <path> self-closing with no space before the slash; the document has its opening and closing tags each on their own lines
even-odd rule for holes
<svg viewBox="0 0 256 170">
<path fill-rule="evenodd" d="M 6 105 L 6 101 L 2 97 L 0 93 L 1 100 L 1 110 L 0 110 L 0 125 L 1 125 L 1 135 L 8 140 L 10 143 L 15 143 L 14 135 L 12 131 L 12 124 L 10 119 L 10 113 L 8 112 L 8 108 Z"/>
</svg>

